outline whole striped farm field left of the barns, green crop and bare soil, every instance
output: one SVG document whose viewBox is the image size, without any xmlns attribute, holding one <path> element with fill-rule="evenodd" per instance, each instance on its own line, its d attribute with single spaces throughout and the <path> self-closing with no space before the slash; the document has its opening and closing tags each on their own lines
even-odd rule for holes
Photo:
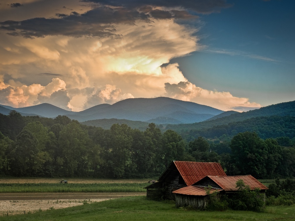
<svg viewBox="0 0 295 221">
<path fill-rule="evenodd" d="M 148 180 L 1 178 L 0 216 L 24 214 L 145 195 Z M 137 192 L 136 192 L 137 191 Z"/>
</svg>

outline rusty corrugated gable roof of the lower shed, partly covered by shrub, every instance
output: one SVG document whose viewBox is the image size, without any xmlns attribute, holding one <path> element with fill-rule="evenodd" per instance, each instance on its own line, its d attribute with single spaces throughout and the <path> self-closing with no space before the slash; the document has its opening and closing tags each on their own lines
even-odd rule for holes
<svg viewBox="0 0 295 221">
<path fill-rule="evenodd" d="M 238 180 L 243 180 L 245 185 L 250 186 L 251 190 L 259 188 L 260 190 L 267 190 L 268 188 L 256 180 L 251 175 L 242 175 L 242 176 L 208 176 L 213 180 L 217 185 L 219 185 L 225 191 L 237 191 L 236 182 Z M 196 182 L 195 185 L 198 185 L 201 181 Z"/>
</svg>

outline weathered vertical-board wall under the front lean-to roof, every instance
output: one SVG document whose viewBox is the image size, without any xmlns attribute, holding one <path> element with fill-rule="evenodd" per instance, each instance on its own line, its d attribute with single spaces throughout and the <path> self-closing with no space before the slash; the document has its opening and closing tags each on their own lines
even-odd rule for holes
<svg viewBox="0 0 295 221">
<path fill-rule="evenodd" d="M 193 195 L 184 195 L 176 194 L 175 205 L 176 207 L 186 207 L 191 206 L 196 209 L 204 209 L 209 201 L 209 196 L 193 196 Z"/>
</svg>

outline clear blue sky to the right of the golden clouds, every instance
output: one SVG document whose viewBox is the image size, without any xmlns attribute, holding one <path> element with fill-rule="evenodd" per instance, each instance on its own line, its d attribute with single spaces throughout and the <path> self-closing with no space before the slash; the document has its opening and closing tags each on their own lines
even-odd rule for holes
<svg viewBox="0 0 295 221">
<path fill-rule="evenodd" d="M 295 2 L 227 1 L 221 13 L 202 15 L 199 43 L 206 47 L 177 58 L 200 87 L 246 96 L 263 106 L 295 98 Z"/>
</svg>

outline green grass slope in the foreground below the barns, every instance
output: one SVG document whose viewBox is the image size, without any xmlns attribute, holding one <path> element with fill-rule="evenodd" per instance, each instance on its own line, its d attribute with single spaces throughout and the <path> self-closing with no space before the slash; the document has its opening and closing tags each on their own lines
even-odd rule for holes
<svg viewBox="0 0 295 221">
<path fill-rule="evenodd" d="M 125 197 L 66 209 L 1 217 L 1 220 L 295 220 L 295 205 L 266 207 L 265 212 L 209 212 L 176 208 L 173 201 Z"/>
</svg>

